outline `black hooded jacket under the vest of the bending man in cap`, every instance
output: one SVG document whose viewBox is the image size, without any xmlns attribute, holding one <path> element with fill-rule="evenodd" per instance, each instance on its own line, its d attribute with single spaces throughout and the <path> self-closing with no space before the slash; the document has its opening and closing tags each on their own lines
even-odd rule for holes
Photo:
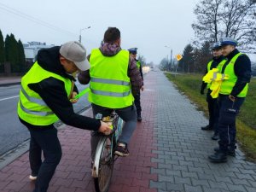
<svg viewBox="0 0 256 192">
<path fill-rule="evenodd" d="M 38 51 L 38 64 L 45 70 L 61 75 L 63 78 L 74 80 L 72 75 L 66 73 L 60 62 L 59 46 L 40 49 Z M 61 121 L 67 125 L 78 127 L 85 130 L 97 131 L 101 122 L 96 119 L 84 117 L 73 111 L 73 104 L 67 98 L 67 91 L 64 83 L 55 78 L 44 79 L 37 84 L 28 84 L 31 90 L 34 90 L 42 97 L 48 107 L 57 115 Z M 74 91 L 78 91 L 77 88 Z M 21 120 L 23 124 L 29 128 L 37 128 L 38 126 L 29 125 Z M 46 126 L 47 127 L 47 126 Z"/>
</svg>

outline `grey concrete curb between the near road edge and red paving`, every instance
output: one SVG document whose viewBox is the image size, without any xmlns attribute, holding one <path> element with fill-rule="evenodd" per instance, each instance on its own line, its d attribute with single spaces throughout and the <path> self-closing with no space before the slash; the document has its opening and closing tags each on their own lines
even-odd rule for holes
<svg viewBox="0 0 256 192">
<path fill-rule="evenodd" d="M 1 85 L 0 85 L 1 86 Z M 84 110 L 80 111 L 79 114 L 84 115 L 90 110 L 90 107 L 85 107 Z M 67 125 L 61 123 L 60 121 L 55 124 L 57 130 L 65 128 Z M 8 166 L 10 163 L 15 161 L 22 154 L 25 154 L 29 149 L 30 139 L 27 139 L 25 142 L 20 143 L 17 147 L 10 149 L 8 152 L 0 156 L 0 170 L 3 167 Z"/>
</svg>

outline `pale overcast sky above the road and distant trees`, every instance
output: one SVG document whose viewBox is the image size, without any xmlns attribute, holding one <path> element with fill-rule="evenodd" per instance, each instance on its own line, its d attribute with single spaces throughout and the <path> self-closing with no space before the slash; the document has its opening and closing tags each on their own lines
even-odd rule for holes
<svg viewBox="0 0 256 192">
<path fill-rule="evenodd" d="M 4 38 L 13 33 L 23 43 L 60 45 L 79 40 L 80 29 L 91 26 L 82 31 L 82 44 L 90 53 L 90 49 L 99 47 L 108 26 L 116 26 L 121 32 L 122 49 L 137 47 L 138 54 L 147 62 L 159 64 L 166 55 L 170 58 L 171 48 L 173 55 L 182 53 L 194 38 L 191 24 L 197 2 L 199 0 L 1 0 L 0 29 Z"/>
</svg>

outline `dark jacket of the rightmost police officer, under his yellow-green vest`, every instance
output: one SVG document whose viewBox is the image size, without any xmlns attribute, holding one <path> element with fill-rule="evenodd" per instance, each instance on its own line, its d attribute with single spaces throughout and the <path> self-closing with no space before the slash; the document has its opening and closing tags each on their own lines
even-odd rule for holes
<svg viewBox="0 0 256 192">
<path fill-rule="evenodd" d="M 227 67 L 228 63 L 238 53 L 239 51 L 235 49 L 229 55 L 227 55 L 228 61 L 224 64 L 221 73 L 224 73 L 224 69 Z M 251 61 L 247 55 L 240 55 L 237 58 L 234 64 L 234 70 L 237 76 L 237 80 L 235 86 L 233 87 L 233 90 L 230 93 L 231 96 L 237 96 L 241 92 L 241 90 L 243 90 L 246 84 L 249 83 L 251 80 Z"/>
</svg>

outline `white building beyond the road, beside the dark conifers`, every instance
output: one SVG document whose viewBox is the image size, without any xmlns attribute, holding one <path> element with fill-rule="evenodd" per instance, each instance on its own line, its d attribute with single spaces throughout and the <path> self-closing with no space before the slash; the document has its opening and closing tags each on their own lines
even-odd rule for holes
<svg viewBox="0 0 256 192">
<path fill-rule="evenodd" d="M 55 46 L 54 44 L 47 45 L 45 43 L 35 42 L 35 41 L 27 42 L 27 44 L 23 44 L 26 61 L 34 62 L 36 55 L 38 55 L 39 49 L 51 48 L 54 46 Z"/>
</svg>

